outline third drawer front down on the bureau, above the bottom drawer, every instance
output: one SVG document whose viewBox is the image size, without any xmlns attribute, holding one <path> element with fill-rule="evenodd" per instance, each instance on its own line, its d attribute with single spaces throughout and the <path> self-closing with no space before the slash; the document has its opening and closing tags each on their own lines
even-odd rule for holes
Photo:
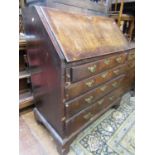
<svg viewBox="0 0 155 155">
<path fill-rule="evenodd" d="M 74 114 L 93 104 L 97 99 L 101 98 L 106 93 L 118 88 L 123 83 L 124 77 L 125 75 L 121 75 L 90 91 L 89 93 L 75 98 L 73 101 L 65 103 L 66 117 L 72 117 Z"/>
</svg>

